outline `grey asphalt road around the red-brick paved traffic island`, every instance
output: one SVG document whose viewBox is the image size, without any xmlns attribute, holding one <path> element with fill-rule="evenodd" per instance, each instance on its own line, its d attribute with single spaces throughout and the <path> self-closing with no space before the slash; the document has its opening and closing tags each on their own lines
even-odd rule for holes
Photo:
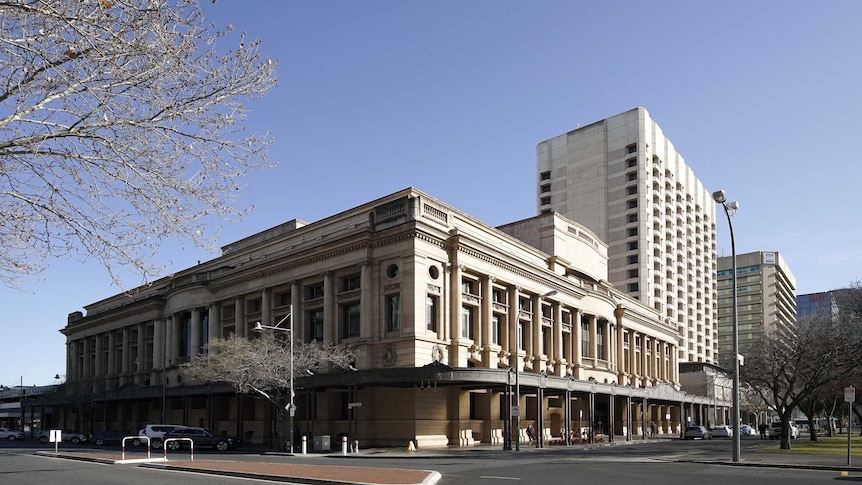
<svg viewBox="0 0 862 485">
<path fill-rule="evenodd" d="M 746 454 L 768 442 L 756 438 L 742 441 L 743 461 Z M 775 445 L 775 442 L 771 442 Z M 71 445 L 66 445 L 72 448 Z M 77 447 L 76 449 L 80 449 Z M 45 485 L 86 483 L 94 485 L 134 483 L 162 485 L 167 481 L 184 485 L 221 485 L 237 483 L 237 479 L 207 475 L 183 474 L 181 478 L 168 472 L 131 465 L 102 465 L 51 457 L 36 456 L 36 450 L 52 449 L 36 443 L 0 443 L 0 483 Z M 118 448 L 117 450 L 118 451 Z M 140 453 L 139 451 L 135 454 Z M 525 448 L 521 452 L 476 448 L 468 451 L 413 456 L 368 451 L 361 458 L 324 456 L 285 457 L 260 455 L 253 452 L 221 454 L 203 452 L 201 459 L 238 461 L 290 461 L 298 463 L 392 467 L 437 470 L 443 475 L 441 485 L 575 483 L 595 484 L 697 484 L 727 485 L 757 483 L 758 485 L 834 483 L 862 481 L 862 473 L 842 476 L 840 471 L 817 471 L 796 468 L 763 468 L 695 463 L 695 460 L 729 459 L 730 440 L 681 441 L 659 440 L 634 445 L 606 446 L 594 449 L 553 447 L 543 450 Z M 354 455 L 355 456 L 355 455 Z M 726 460 L 727 461 L 727 460 Z M 121 474 L 121 475 L 119 475 Z M 246 480 L 255 483 L 253 480 Z M 258 481 L 256 483 L 263 483 Z"/>
</svg>

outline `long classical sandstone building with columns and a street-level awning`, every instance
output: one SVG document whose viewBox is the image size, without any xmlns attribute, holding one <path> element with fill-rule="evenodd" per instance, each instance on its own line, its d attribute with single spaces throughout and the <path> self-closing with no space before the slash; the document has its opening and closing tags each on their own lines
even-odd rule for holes
<svg viewBox="0 0 862 485">
<path fill-rule="evenodd" d="M 493 228 L 406 189 L 71 314 L 57 414 L 84 430 L 164 421 L 270 443 L 266 401 L 184 383 L 178 366 L 292 305 L 297 339 L 357 355 L 355 372 L 297 376 L 302 434 L 468 445 L 527 424 L 540 441 L 590 423 L 631 438 L 648 421 L 678 434 L 701 400 L 679 390 L 677 328 L 606 279 L 606 245 L 559 214 Z M 95 409 L 73 405 L 86 399 Z"/>
</svg>

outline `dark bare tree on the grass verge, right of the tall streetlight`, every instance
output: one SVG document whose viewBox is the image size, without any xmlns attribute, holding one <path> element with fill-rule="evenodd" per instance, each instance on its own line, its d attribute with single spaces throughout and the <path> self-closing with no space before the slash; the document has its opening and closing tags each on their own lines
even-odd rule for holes
<svg viewBox="0 0 862 485">
<path fill-rule="evenodd" d="M 836 381 L 853 375 L 860 339 L 847 320 L 819 314 L 799 322 L 790 334 L 764 336 L 745 349 L 740 376 L 776 411 L 782 423 L 781 449 L 790 449 L 794 408 Z"/>
</svg>

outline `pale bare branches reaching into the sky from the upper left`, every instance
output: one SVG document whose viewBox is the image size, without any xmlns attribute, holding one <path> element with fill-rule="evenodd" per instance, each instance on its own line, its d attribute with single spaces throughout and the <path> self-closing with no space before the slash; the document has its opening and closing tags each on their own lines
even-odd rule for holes
<svg viewBox="0 0 862 485">
<path fill-rule="evenodd" d="M 198 0 L 0 0 L 0 30 L 4 284 L 57 257 L 147 281 L 165 239 L 212 249 L 250 210 L 242 177 L 273 166 L 245 127 L 276 82 L 258 42 Z"/>
</svg>

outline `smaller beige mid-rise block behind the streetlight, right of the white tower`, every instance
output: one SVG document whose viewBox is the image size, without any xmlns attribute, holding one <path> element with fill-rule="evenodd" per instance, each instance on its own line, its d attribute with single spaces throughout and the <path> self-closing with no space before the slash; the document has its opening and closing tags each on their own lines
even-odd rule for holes
<svg viewBox="0 0 862 485">
<path fill-rule="evenodd" d="M 764 335 L 796 327 L 796 277 L 777 251 L 736 255 L 739 348 Z M 733 258 L 718 258 L 718 355 L 733 355 Z M 732 362 L 732 361 L 731 361 Z M 728 364 L 729 365 L 729 364 Z"/>
</svg>

